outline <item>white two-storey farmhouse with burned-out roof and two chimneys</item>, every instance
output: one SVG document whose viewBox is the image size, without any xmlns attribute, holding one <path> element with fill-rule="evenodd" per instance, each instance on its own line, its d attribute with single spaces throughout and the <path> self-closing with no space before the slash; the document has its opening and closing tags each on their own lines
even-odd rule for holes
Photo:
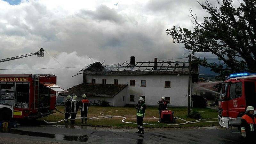
<svg viewBox="0 0 256 144">
<path fill-rule="evenodd" d="M 140 97 L 148 106 L 156 106 L 157 101 L 165 97 L 169 106 L 187 107 L 188 105 L 188 71 L 187 61 L 130 62 L 103 66 L 100 62 L 82 69 L 83 84 L 69 88 L 68 93 L 60 97 L 83 94 L 92 102 L 106 100 L 113 106 L 135 105 Z M 81 72 L 80 71 L 80 72 Z M 192 64 L 191 81 L 197 82 L 199 68 Z M 192 86 L 192 84 L 190 84 Z"/>
</svg>

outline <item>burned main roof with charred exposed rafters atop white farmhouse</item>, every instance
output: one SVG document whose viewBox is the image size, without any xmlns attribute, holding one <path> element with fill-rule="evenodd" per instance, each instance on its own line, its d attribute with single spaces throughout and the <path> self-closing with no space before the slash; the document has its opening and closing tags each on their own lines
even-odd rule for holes
<svg viewBox="0 0 256 144">
<path fill-rule="evenodd" d="M 134 58 L 135 59 L 135 58 Z M 184 61 L 148 61 L 135 62 L 118 65 L 103 66 L 100 62 L 93 63 L 82 69 L 84 74 L 88 75 L 162 75 L 162 74 L 188 74 L 189 62 Z M 191 74 L 199 73 L 198 65 L 192 65 Z"/>
</svg>

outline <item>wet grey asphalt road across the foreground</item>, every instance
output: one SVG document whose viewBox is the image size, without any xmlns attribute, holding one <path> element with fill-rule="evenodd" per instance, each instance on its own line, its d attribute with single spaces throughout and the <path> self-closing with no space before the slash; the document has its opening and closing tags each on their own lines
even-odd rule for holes
<svg viewBox="0 0 256 144">
<path fill-rule="evenodd" d="M 89 126 L 18 126 L 0 129 L 0 143 L 174 143 L 174 144 L 238 144 L 244 143 L 240 133 L 219 127 L 145 129 L 113 129 Z"/>
</svg>

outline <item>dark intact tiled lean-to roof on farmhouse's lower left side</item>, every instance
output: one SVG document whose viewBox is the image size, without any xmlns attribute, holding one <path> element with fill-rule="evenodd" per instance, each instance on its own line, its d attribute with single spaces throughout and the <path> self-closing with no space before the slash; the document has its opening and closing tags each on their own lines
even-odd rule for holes
<svg viewBox="0 0 256 144">
<path fill-rule="evenodd" d="M 128 84 L 78 84 L 69 88 L 68 92 L 59 93 L 59 95 L 76 95 L 82 97 L 114 97 L 122 91 Z"/>
</svg>

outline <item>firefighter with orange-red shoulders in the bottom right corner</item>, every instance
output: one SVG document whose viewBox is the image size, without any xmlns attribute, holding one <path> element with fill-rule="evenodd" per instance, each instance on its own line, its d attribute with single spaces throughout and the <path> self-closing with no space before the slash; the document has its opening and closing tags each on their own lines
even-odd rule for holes
<svg viewBox="0 0 256 144">
<path fill-rule="evenodd" d="M 253 116 L 254 108 L 248 106 L 245 111 L 245 115 L 241 119 L 241 134 L 245 137 L 246 141 L 250 142 L 256 135 L 255 124 L 256 117 Z"/>
</svg>

